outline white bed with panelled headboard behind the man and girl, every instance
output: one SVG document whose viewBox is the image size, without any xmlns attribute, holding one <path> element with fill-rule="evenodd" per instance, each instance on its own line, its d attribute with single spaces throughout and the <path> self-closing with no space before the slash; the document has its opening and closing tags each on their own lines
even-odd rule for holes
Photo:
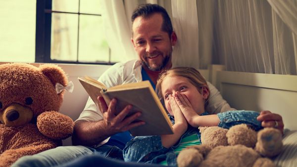
<svg viewBox="0 0 297 167">
<path fill-rule="evenodd" d="M 33 65 L 39 66 L 35 63 Z M 110 66 L 59 66 L 75 85 L 72 93 L 65 93 L 60 112 L 76 120 L 88 99 L 88 94 L 77 78 L 87 75 L 97 79 Z M 286 129 L 283 136 L 284 147 L 281 154 L 273 160 L 278 167 L 297 167 L 297 76 L 230 72 L 224 71 L 224 66 L 221 65 L 210 65 L 207 70 L 199 71 L 220 90 L 232 107 L 239 110 L 270 110 L 280 114 Z M 71 145 L 71 139 L 64 140 L 63 145 Z"/>
</svg>

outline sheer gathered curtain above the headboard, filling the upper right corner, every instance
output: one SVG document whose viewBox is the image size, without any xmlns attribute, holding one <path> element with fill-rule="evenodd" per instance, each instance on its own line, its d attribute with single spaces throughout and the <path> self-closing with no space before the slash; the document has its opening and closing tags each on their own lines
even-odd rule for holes
<svg viewBox="0 0 297 167">
<path fill-rule="evenodd" d="M 214 55 L 227 70 L 297 74 L 296 0 L 218 0 Z"/>
</svg>

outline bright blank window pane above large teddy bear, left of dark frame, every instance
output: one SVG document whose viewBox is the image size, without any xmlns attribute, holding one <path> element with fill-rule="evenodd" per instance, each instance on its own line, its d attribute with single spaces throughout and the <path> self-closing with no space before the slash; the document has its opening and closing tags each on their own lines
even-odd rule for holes
<svg viewBox="0 0 297 167">
<path fill-rule="evenodd" d="M 36 0 L 0 0 L 0 61 L 35 61 Z"/>
</svg>

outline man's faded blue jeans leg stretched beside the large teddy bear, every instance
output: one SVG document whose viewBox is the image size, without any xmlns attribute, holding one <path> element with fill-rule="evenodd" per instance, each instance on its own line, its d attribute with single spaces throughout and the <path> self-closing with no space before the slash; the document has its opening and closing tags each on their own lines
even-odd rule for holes
<svg viewBox="0 0 297 167">
<path fill-rule="evenodd" d="M 98 148 L 60 146 L 33 156 L 24 156 L 11 167 L 53 167 L 63 165 L 85 155 L 99 155 L 123 160 L 123 152 L 116 146 L 102 145 Z"/>
</svg>

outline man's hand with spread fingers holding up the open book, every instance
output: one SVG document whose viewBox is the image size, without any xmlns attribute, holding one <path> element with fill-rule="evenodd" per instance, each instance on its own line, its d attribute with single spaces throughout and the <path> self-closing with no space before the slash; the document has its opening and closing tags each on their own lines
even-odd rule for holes
<svg viewBox="0 0 297 167">
<path fill-rule="evenodd" d="M 118 133 L 130 130 L 133 127 L 144 125 L 145 122 L 139 121 L 134 123 L 139 116 L 140 112 L 137 112 L 129 117 L 126 117 L 132 109 L 131 105 L 127 105 L 118 115 L 115 114 L 116 99 L 112 99 L 107 107 L 103 97 L 98 97 L 100 104 L 100 110 L 103 113 L 103 125 L 109 128 L 110 132 Z"/>
</svg>

